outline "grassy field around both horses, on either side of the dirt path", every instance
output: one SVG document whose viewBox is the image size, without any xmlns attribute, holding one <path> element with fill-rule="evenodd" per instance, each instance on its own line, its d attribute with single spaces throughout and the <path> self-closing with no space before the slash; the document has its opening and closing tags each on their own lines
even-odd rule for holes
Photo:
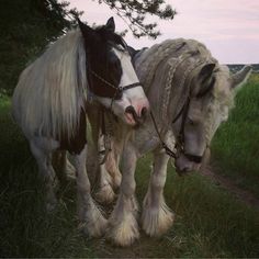
<svg viewBox="0 0 259 259">
<path fill-rule="evenodd" d="M 229 121 L 212 145 L 212 164 L 259 198 L 259 76 L 238 93 Z M 131 248 L 114 248 L 77 229 L 76 187 L 58 192 L 57 210 L 44 209 L 44 188 L 29 145 L 0 98 L 0 257 L 259 257 L 259 210 L 238 201 L 214 181 L 170 167 L 165 195 L 176 213 L 161 238 L 143 233 Z M 151 157 L 138 161 L 137 198 L 145 195 Z M 105 210 L 105 207 L 104 207 Z"/>
</svg>

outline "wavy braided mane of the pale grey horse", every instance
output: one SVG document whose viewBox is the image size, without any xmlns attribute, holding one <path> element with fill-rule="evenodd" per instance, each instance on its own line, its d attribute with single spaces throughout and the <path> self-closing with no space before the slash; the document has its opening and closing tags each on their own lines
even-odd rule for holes
<svg viewBox="0 0 259 259">
<path fill-rule="evenodd" d="M 153 98 L 156 99 L 157 103 L 154 108 L 157 111 L 155 113 L 161 119 L 161 124 L 167 125 L 168 120 L 178 114 L 190 92 L 188 81 L 198 75 L 202 66 L 209 63 L 216 64 L 217 77 L 229 76 L 227 68 L 221 66 L 211 52 L 194 40 L 167 40 L 136 56 L 135 68 L 138 78 L 144 85 L 150 103 Z M 157 89 L 160 91 L 159 94 L 151 93 L 154 97 L 150 95 L 149 91 L 158 86 L 161 88 Z M 230 94 L 224 93 L 224 89 L 213 89 L 213 95 L 216 99 L 214 103 L 217 103 L 218 108 L 229 106 L 232 103 Z M 157 100 L 157 95 L 160 97 L 159 100 Z"/>
</svg>

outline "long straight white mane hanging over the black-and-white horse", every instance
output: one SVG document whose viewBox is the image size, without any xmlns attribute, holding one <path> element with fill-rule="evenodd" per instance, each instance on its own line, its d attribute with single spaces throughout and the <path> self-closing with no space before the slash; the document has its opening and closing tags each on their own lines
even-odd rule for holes
<svg viewBox="0 0 259 259">
<path fill-rule="evenodd" d="M 13 115 L 25 135 L 71 136 L 86 90 L 83 40 L 79 31 L 71 31 L 21 74 L 13 94 Z"/>
</svg>

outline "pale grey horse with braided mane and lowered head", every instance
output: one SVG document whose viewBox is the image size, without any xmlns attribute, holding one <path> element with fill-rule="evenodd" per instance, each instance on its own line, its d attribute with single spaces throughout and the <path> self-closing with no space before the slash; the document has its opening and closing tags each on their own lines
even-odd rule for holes
<svg viewBox="0 0 259 259">
<path fill-rule="evenodd" d="M 154 121 L 149 117 L 122 148 L 120 124 L 113 121 L 112 151 L 100 168 L 98 196 L 103 202 L 120 194 L 109 219 L 106 236 L 113 243 L 128 246 L 138 238 L 137 204 L 134 196 L 136 162 L 144 154 L 154 154 L 153 172 L 143 202 L 140 224 L 149 236 L 164 234 L 173 223 L 166 205 L 164 187 L 169 147 L 179 173 L 199 170 L 206 148 L 219 124 L 227 120 L 236 89 L 248 78 L 251 68 L 230 75 L 212 57 L 207 48 L 193 40 L 168 40 L 149 49 L 136 52 L 135 69 L 148 97 Z M 90 116 L 98 131 L 97 116 Z M 119 161 L 122 155 L 122 181 Z M 110 193 L 109 193 L 110 192 Z"/>
</svg>

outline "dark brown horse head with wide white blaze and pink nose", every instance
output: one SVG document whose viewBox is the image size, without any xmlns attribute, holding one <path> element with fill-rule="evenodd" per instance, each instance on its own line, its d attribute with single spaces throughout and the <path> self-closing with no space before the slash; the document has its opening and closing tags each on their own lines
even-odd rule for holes
<svg viewBox="0 0 259 259">
<path fill-rule="evenodd" d="M 113 18 L 91 29 L 78 20 L 85 41 L 89 90 L 105 108 L 135 126 L 144 122 L 148 100 L 136 76 L 130 52 L 115 33 Z"/>
</svg>

